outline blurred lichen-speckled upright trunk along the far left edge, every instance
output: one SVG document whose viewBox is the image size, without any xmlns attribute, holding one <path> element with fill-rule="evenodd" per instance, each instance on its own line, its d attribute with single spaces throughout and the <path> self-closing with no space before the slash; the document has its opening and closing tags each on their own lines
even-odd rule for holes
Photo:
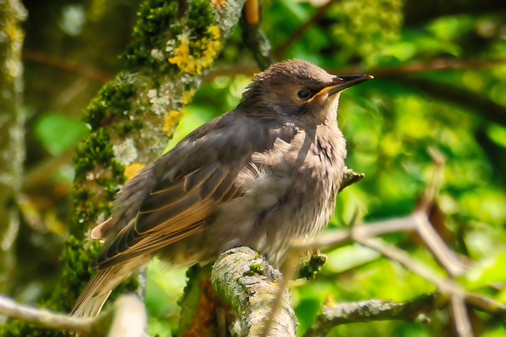
<svg viewBox="0 0 506 337">
<path fill-rule="evenodd" d="M 20 216 L 14 206 L 21 190 L 25 159 L 22 111 L 24 31 L 27 12 L 19 0 L 0 2 L 0 293 L 9 292 L 15 265 L 13 245 Z"/>
</svg>

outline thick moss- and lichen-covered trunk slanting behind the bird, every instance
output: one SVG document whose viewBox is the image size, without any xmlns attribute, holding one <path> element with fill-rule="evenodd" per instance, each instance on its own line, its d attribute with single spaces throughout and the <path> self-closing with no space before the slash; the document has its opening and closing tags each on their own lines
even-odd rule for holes
<svg viewBox="0 0 506 337">
<path fill-rule="evenodd" d="M 51 299 L 41 305 L 68 311 L 90 279 L 89 263 L 100 251 L 86 234 L 111 214 L 112 201 L 126 179 L 161 155 L 237 24 L 244 0 L 217 8 L 193 0 L 180 17 L 178 0 L 146 0 L 132 42 L 122 56 L 125 68 L 106 83 L 84 113 L 90 133 L 77 146 L 70 237 L 61 256 L 63 273 Z M 128 280 L 116 294 L 137 282 Z M 114 295 L 112 296 L 114 298 Z M 2 335 L 43 336 L 62 332 L 13 323 Z"/>
</svg>

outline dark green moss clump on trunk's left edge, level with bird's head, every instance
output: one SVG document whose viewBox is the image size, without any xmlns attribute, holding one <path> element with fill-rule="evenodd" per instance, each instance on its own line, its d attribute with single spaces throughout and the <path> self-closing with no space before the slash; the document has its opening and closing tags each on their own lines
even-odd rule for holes
<svg viewBox="0 0 506 337">
<path fill-rule="evenodd" d="M 134 85 L 127 82 L 124 75 L 119 75 L 117 82 L 108 82 L 102 87 L 88 106 L 83 121 L 88 123 L 92 130 L 96 130 L 110 122 L 115 115 L 131 111 L 130 98 L 135 92 Z"/>
</svg>

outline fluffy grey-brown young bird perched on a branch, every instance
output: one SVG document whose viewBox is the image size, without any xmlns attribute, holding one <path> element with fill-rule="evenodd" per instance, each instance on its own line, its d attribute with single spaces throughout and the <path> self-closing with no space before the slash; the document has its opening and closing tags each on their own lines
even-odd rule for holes
<svg viewBox="0 0 506 337">
<path fill-rule="evenodd" d="M 246 246 L 280 266 L 290 241 L 334 214 L 346 169 L 338 127 L 343 90 L 373 78 L 334 76 L 302 60 L 256 74 L 238 106 L 197 128 L 126 183 L 75 317 L 96 317 L 111 291 L 159 256 L 171 267 Z"/>
</svg>

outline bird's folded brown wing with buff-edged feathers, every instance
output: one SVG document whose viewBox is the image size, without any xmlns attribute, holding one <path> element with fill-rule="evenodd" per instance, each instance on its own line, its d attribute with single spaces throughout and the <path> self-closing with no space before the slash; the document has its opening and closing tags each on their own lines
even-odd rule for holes
<svg viewBox="0 0 506 337">
<path fill-rule="evenodd" d="M 218 205 L 241 194 L 237 176 L 251 155 L 270 150 L 278 138 L 289 142 L 299 130 L 236 119 L 225 115 L 204 125 L 125 185 L 95 267 L 109 268 L 202 229 Z"/>
</svg>

